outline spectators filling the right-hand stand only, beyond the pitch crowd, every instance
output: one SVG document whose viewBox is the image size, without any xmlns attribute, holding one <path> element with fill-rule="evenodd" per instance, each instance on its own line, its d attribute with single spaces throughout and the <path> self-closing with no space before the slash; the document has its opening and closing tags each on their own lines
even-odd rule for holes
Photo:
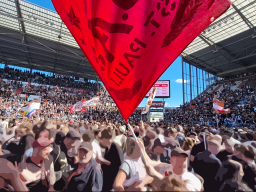
<svg viewBox="0 0 256 192">
<path fill-rule="evenodd" d="M 241 88 L 234 91 L 230 88 L 234 81 L 224 83 L 222 91 L 214 93 L 209 88 L 201 95 L 181 105 L 177 109 L 166 110 L 165 120 L 173 123 L 215 125 L 219 126 L 252 126 L 256 123 L 256 81 L 247 81 Z M 225 108 L 230 108 L 230 114 L 216 115 L 213 106 L 214 95 L 218 100 L 225 101 Z"/>
</svg>

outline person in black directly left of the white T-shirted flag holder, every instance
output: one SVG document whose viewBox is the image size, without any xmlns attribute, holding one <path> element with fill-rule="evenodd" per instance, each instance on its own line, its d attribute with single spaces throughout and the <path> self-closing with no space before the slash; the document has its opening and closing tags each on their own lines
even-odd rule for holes
<svg viewBox="0 0 256 192">
<path fill-rule="evenodd" d="M 111 164 L 101 165 L 103 171 L 103 188 L 102 191 L 110 191 L 113 188 L 113 184 L 116 175 L 119 171 L 119 167 L 123 162 L 124 154 L 121 147 L 112 141 L 113 131 L 111 129 L 104 129 L 101 132 L 100 146 L 105 149 L 104 159 Z"/>
</svg>

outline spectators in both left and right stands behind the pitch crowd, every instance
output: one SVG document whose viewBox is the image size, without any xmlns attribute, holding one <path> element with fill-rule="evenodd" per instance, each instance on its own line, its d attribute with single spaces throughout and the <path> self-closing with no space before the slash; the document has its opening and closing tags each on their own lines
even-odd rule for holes
<svg viewBox="0 0 256 192">
<path fill-rule="evenodd" d="M 29 101 L 24 98 L 20 98 L 19 95 L 14 95 L 14 92 L 23 87 L 22 93 L 34 94 L 41 97 L 41 110 L 37 116 L 42 119 L 81 119 L 87 118 L 99 120 L 108 118 L 121 121 L 122 116 L 115 106 L 106 106 L 111 98 L 105 95 L 101 95 L 101 105 L 97 108 L 88 108 L 86 113 L 74 113 L 69 114 L 69 107 L 81 100 L 89 100 L 95 96 L 98 96 L 96 83 L 90 82 L 76 82 L 73 79 L 67 79 L 66 77 L 47 77 L 45 74 L 29 72 L 21 72 L 17 69 L 5 68 L 4 73 L 1 74 L 2 78 L 10 79 L 9 83 L 1 82 L 1 116 L 8 116 L 10 118 L 21 118 L 21 108 Z M 40 86 L 22 86 L 20 81 L 26 81 L 26 76 L 31 75 L 33 82 L 41 84 Z M 40 78 L 38 78 L 40 77 Z M 44 79 L 48 78 L 48 82 Z M 42 80 L 42 81 L 41 81 Z M 255 127 L 256 116 L 256 81 L 254 79 L 245 80 L 246 83 L 236 90 L 231 90 L 231 87 L 235 85 L 234 80 L 221 84 L 223 88 L 221 91 L 216 92 L 216 96 L 219 100 L 225 101 L 225 107 L 231 109 L 230 114 L 216 115 L 212 110 L 212 101 L 214 97 L 214 90 L 211 88 L 204 91 L 198 97 L 191 102 L 185 103 L 176 109 L 166 109 L 164 113 L 164 121 L 179 124 L 198 124 L 201 126 L 252 126 Z M 61 82 L 67 82 L 67 84 L 61 84 Z M 75 83 L 74 83 L 75 82 Z M 77 83 L 77 84 L 76 84 Z M 59 91 L 56 87 L 45 86 L 50 84 L 52 86 L 65 87 Z M 75 84 L 75 85 L 73 85 Z M 79 84 L 83 84 L 83 88 L 86 91 L 80 91 L 74 88 L 79 88 Z M 70 87 L 69 87 L 70 85 Z M 52 94 L 52 90 L 56 94 Z M 130 120 L 140 120 L 140 111 L 136 110 L 131 116 Z M 143 116 L 143 118 L 146 118 Z M 218 122 L 218 123 L 217 123 Z"/>
</svg>

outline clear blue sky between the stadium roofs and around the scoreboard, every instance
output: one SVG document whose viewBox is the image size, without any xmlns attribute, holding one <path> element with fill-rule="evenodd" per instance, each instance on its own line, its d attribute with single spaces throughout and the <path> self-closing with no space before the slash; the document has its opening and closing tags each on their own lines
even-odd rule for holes
<svg viewBox="0 0 256 192">
<path fill-rule="evenodd" d="M 54 6 L 51 0 L 28 0 L 31 3 L 39 5 L 41 7 L 54 10 Z M 160 77 L 159 80 L 170 80 L 171 82 L 171 98 L 164 99 L 166 102 L 166 107 L 176 107 L 183 102 L 182 97 L 182 69 L 181 69 L 181 58 L 179 57 Z M 162 101 L 163 99 L 155 99 L 156 101 Z M 140 107 L 144 107 L 147 99 L 143 99 Z"/>
</svg>

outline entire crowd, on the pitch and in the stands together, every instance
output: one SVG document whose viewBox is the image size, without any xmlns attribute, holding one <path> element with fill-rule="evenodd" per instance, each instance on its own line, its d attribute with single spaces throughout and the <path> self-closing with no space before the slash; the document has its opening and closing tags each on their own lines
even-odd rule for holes
<svg viewBox="0 0 256 192">
<path fill-rule="evenodd" d="M 254 80 L 235 91 L 225 83 L 216 93 L 228 115 L 213 113 L 207 90 L 167 110 L 163 122 L 150 123 L 136 110 L 131 129 L 107 95 L 10 80 L 0 90 L 1 191 L 255 190 Z M 30 102 L 22 94 L 41 97 L 32 118 L 21 114 Z M 69 113 L 95 96 L 97 107 Z"/>
</svg>

